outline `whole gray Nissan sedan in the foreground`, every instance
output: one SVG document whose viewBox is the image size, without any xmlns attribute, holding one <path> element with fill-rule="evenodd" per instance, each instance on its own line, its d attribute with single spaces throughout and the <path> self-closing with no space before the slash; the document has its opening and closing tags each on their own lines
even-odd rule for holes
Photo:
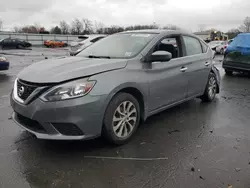
<svg viewBox="0 0 250 188">
<path fill-rule="evenodd" d="M 213 53 L 182 31 L 110 35 L 78 56 L 35 63 L 11 94 L 13 120 L 40 139 L 104 136 L 124 144 L 141 121 L 199 97 L 211 102 L 220 76 Z"/>
</svg>

